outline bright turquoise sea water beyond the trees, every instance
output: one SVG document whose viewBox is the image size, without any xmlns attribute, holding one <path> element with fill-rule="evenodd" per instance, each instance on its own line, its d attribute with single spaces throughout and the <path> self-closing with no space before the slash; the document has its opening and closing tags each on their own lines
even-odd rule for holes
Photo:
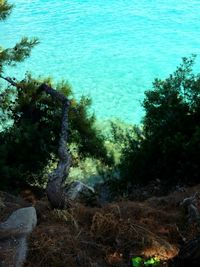
<svg viewBox="0 0 200 267">
<path fill-rule="evenodd" d="M 11 1 L 12 2 L 12 1 Z M 200 54 L 199 0 L 15 0 L 0 44 L 36 36 L 32 56 L 7 74 L 67 79 L 99 119 L 139 122 L 144 91 L 181 57 Z M 197 59 L 197 69 L 200 65 Z"/>
</svg>

